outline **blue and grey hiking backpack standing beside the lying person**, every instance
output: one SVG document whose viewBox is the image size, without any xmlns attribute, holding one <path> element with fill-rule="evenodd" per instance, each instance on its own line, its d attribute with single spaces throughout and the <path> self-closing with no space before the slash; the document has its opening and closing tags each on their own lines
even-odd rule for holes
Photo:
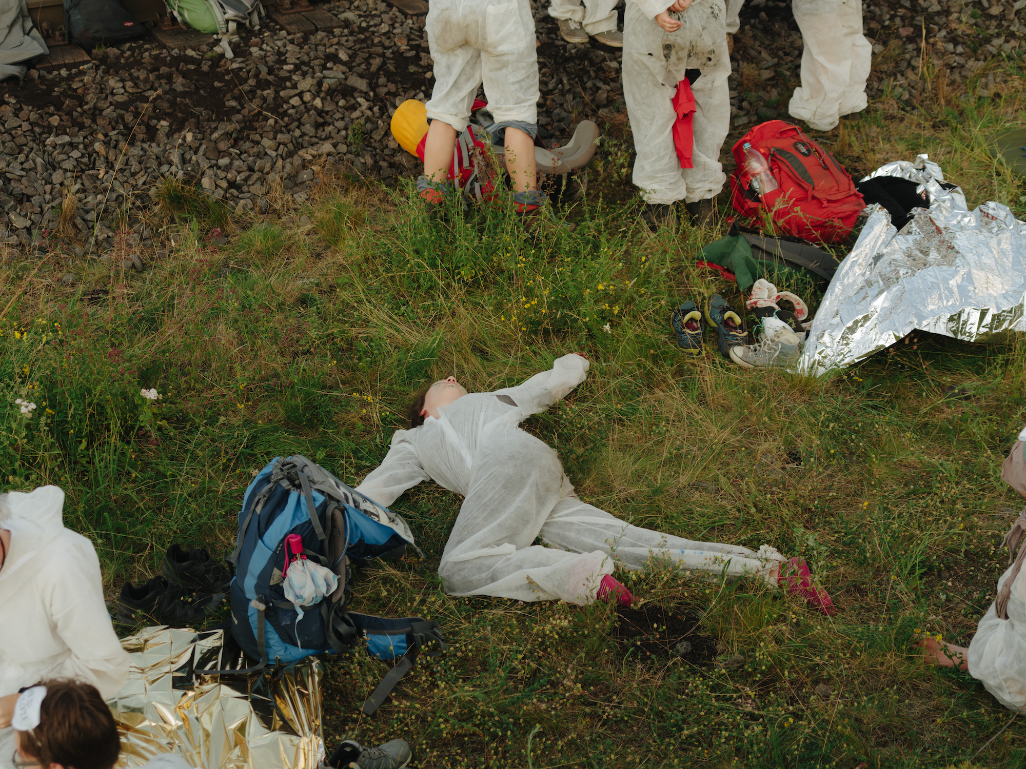
<svg viewBox="0 0 1026 769">
<path fill-rule="evenodd" d="M 302 617 L 282 586 L 284 542 L 289 534 L 303 538 L 303 555 L 339 577 L 334 592 L 306 607 Z M 287 664 L 311 654 L 341 653 L 364 641 L 371 656 L 399 660 L 363 705 L 366 715 L 373 713 L 428 642 L 445 648 L 437 622 L 346 610 L 352 591 L 349 561 L 399 558 L 407 545 L 417 548 L 400 516 L 354 491 L 319 464 L 305 456 L 272 460 L 246 489 L 238 542 L 229 557 L 235 564 L 232 635 L 248 656 L 260 659 L 245 672 L 259 671 L 269 660 Z"/>
</svg>

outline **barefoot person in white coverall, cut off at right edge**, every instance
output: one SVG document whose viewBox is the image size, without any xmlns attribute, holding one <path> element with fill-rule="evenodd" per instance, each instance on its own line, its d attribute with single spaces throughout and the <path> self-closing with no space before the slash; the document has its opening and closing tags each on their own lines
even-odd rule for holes
<svg viewBox="0 0 1026 769">
<path fill-rule="evenodd" d="M 1019 434 L 1001 468 L 1001 478 L 1026 496 L 1026 429 Z M 1026 580 L 1019 577 L 1026 545 L 1016 549 L 1026 533 L 1026 508 L 1004 536 L 1009 568 L 997 580 L 997 598 L 983 615 L 969 648 L 926 636 L 915 646 L 928 662 L 968 671 L 987 691 L 1016 713 L 1026 706 Z"/>
</svg>

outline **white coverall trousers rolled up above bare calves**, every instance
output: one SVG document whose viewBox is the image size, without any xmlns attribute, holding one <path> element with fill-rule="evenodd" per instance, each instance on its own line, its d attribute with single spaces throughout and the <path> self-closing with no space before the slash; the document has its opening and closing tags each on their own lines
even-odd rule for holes
<svg viewBox="0 0 1026 769">
<path fill-rule="evenodd" d="M 465 130 L 483 82 L 497 124 L 538 123 L 541 92 L 527 0 L 432 0 L 425 28 L 435 72 L 429 119 Z"/>
</svg>

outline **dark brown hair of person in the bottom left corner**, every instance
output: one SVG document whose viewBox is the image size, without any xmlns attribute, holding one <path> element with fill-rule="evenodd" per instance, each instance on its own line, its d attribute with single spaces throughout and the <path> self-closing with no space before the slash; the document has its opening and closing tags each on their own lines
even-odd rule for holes
<svg viewBox="0 0 1026 769">
<path fill-rule="evenodd" d="M 43 766 L 111 769 L 121 753 L 121 739 L 96 687 L 63 680 L 42 684 L 46 696 L 39 709 L 39 726 L 22 734 L 23 751 Z"/>
</svg>

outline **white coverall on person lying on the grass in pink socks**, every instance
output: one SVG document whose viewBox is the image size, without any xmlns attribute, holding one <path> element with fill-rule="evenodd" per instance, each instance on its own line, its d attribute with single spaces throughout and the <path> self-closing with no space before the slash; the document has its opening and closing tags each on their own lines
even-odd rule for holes
<svg viewBox="0 0 1026 769">
<path fill-rule="evenodd" d="M 768 572 L 783 560 L 773 548 L 755 553 L 661 534 L 578 498 L 556 452 L 519 424 L 580 385 L 587 370 L 586 359 L 566 355 L 523 385 L 457 399 L 439 418 L 396 431 L 381 467 L 356 490 L 386 507 L 427 480 L 463 494 L 438 566 L 453 596 L 583 605 L 615 561 L 640 569 L 652 556 L 772 581 Z M 552 547 L 534 544 L 537 537 Z"/>
</svg>

